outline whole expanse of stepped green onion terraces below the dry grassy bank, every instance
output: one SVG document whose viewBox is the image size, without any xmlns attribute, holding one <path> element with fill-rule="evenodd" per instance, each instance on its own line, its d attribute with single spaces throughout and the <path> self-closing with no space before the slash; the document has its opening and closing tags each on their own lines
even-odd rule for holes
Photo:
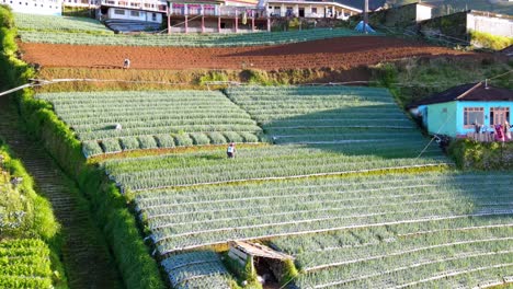
<svg viewBox="0 0 513 289">
<path fill-rule="evenodd" d="M 294 255 L 299 288 L 474 287 L 511 279 L 511 175 L 431 170 L 452 163 L 386 90 L 248 86 L 226 93 L 38 95 L 84 143 L 100 141 L 98 153 L 160 148 L 162 136 L 170 147 L 183 135 L 191 136 L 189 144 L 202 144 L 198 135 L 205 143 L 224 143 L 227 134 L 243 141 L 244 134 L 264 132 L 275 143 L 238 148 L 235 159 L 225 148 L 198 147 L 101 161 L 135 204 L 173 287 L 227 288 L 232 276 L 219 255 L 194 250 L 231 240 L 269 240 Z M 113 129 L 116 124 L 123 128 Z M 213 134 L 224 141 L 214 142 Z M 148 136 L 156 144 L 142 146 Z M 110 141 L 118 149 L 107 150 Z"/>
</svg>

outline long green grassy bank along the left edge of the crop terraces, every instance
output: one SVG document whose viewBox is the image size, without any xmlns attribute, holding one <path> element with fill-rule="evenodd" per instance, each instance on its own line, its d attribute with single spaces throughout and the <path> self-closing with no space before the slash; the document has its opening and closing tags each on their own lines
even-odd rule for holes
<svg viewBox="0 0 513 289">
<path fill-rule="evenodd" d="M 0 7 L 0 37 L 3 47 L 0 57 L 0 79 L 3 89 L 20 85 L 34 76 L 26 63 L 15 58 L 15 30 L 9 9 Z M 144 244 L 134 216 L 128 211 L 124 197 L 105 180 L 104 175 L 86 163 L 80 142 L 72 131 L 53 113 L 52 106 L 33 99 L 25 90 L 15 94 L 29 131 L 42 139 L 45 148 L 66 170 L 78 180 L 79 187 L 87 192 L 93 205 L 98 223 L 113 251 L 119 271 L 127 288 L 163 288 L 157 263 Z"/>
</svg>

